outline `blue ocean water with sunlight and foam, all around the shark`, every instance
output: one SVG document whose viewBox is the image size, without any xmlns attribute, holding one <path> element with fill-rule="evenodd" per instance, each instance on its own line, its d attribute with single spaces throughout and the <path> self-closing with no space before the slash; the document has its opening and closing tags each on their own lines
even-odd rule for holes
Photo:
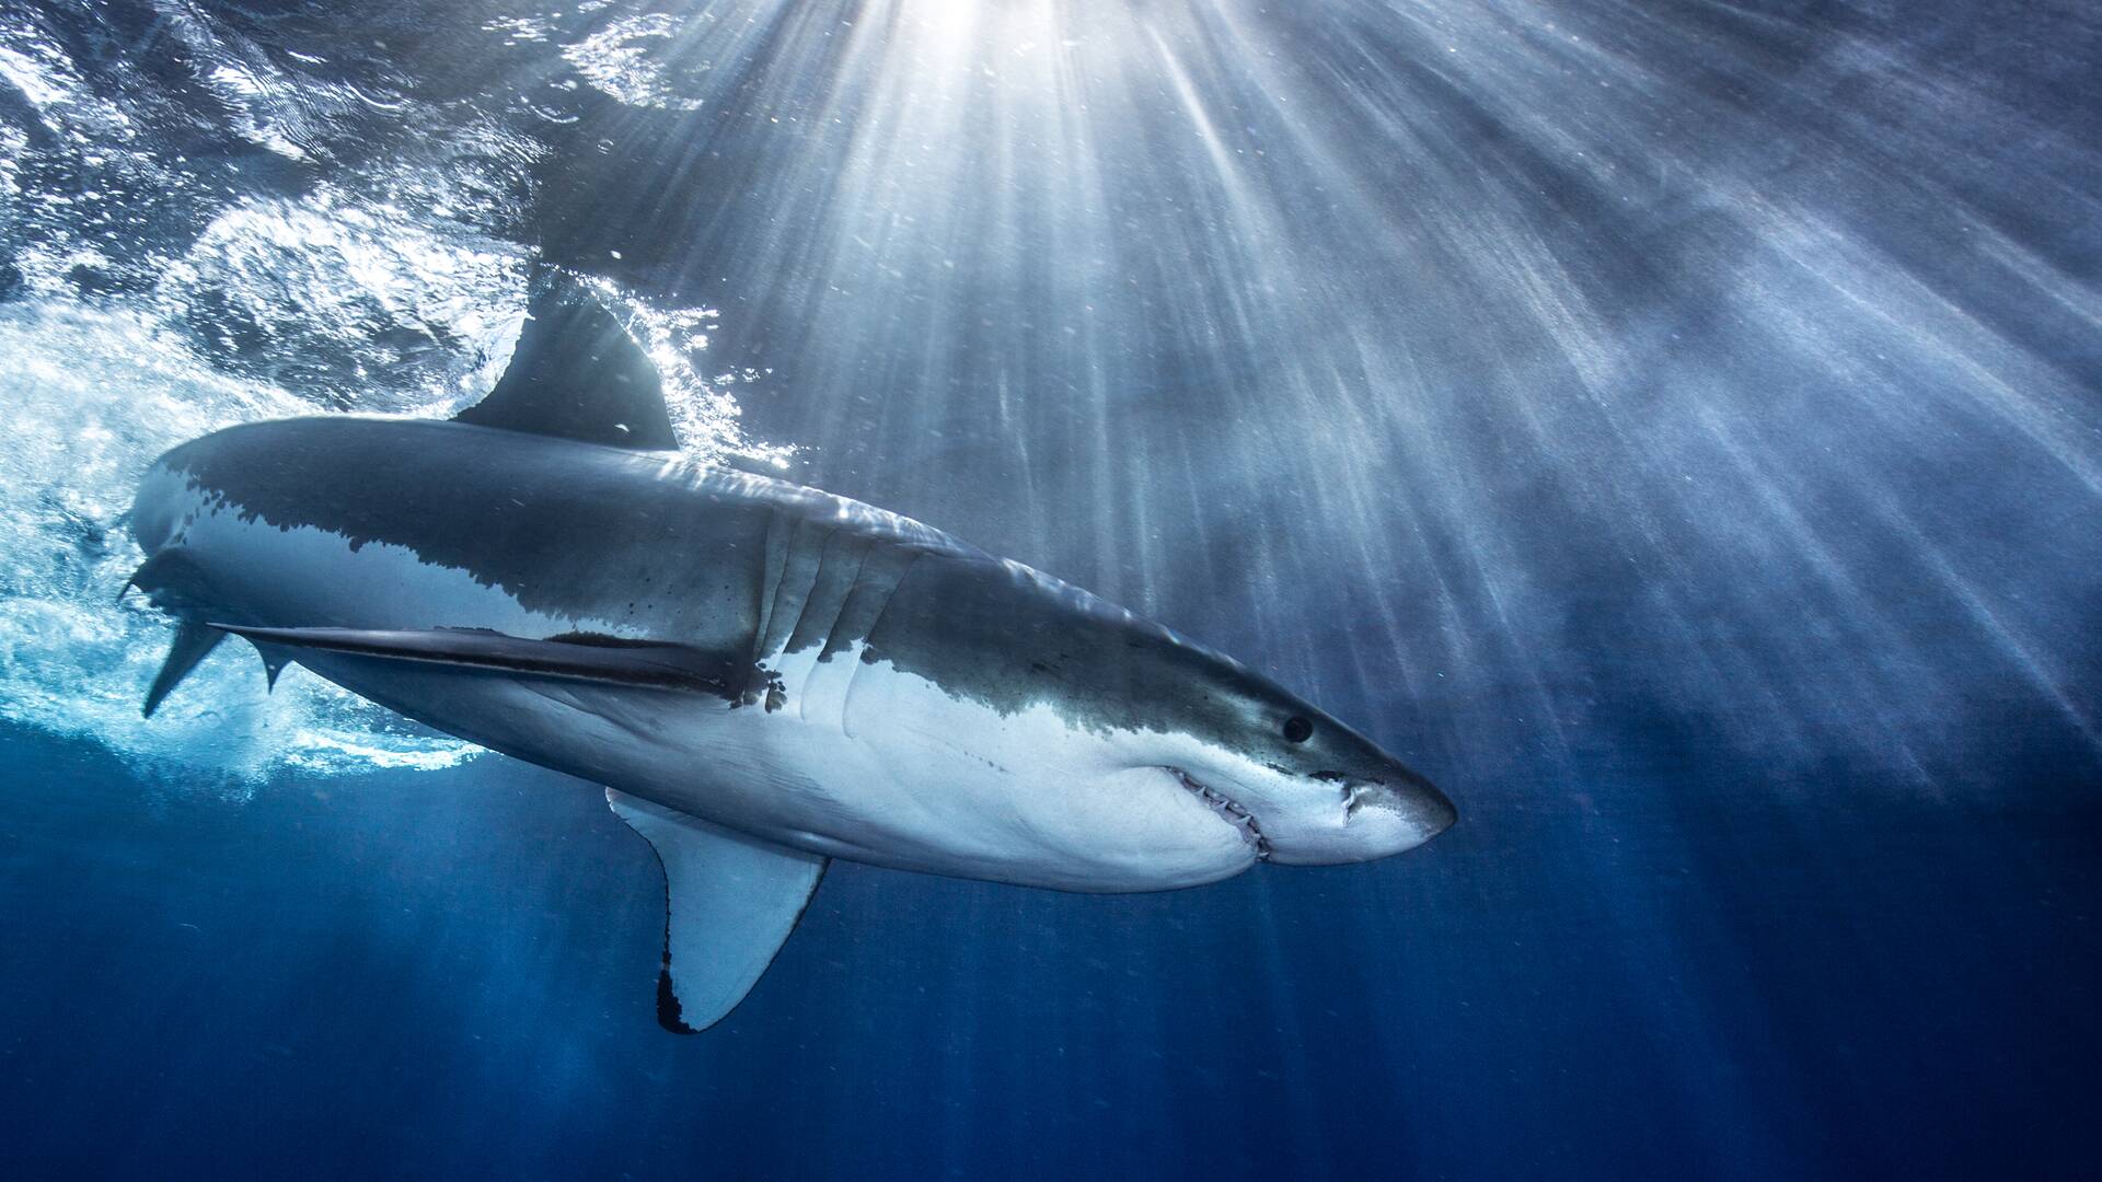
<svg viewBox="0 0 2102 1182">
<path fill-rule="evenodd" d="M 0 0 L 8 1176 L 2081 1178 L 2079 2 Z M 834 867 L 721 1026 L 591 784 L 223 646 L 151 458 L 441 416 L 536 263 L 687 448 L 1272 671 L 1461 822 Z"/>
</svg>

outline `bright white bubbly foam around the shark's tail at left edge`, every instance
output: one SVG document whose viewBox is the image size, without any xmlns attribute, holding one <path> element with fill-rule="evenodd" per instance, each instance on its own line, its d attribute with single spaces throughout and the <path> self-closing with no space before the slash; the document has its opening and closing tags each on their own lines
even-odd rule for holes
<svg viewBox="0 0 2102 1182">
<path fill-rule="evenodd" d="M 141 562 L 126 528 L 139 475 L 183 440 L 311 406 L 214 374 L 139 313 L 0 307 L 0 719 L 235 791 L 286 766 L 435 768 L 471 753 L 317 677 L 288 673 L 265 696 L 240 644 L 141 717 L 170 625 L 137 597 L 116 604 Z"/>
</svg>

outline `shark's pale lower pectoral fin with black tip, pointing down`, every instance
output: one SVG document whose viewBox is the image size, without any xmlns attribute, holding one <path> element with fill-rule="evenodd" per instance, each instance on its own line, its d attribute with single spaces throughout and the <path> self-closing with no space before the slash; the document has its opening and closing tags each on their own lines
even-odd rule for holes
<svg viewBox="0 0 2102 1182">
<path fill-rule="evenodd" d="M 681 1035 L 706 1031 L 774 963 L 809 906 L 826 858 L 767 845 L 614 789 L 605 789 L 605 803 L 664 864 L 658 1022 Z"/>
</svg>

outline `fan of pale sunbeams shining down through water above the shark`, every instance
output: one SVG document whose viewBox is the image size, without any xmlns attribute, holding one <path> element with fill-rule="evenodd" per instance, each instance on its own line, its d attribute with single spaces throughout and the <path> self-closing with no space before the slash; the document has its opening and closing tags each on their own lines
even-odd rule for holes
<svg viewBox="0 0 2102 1182">
<path fill-rule="evenodd" d="M 2094 736 L 2102 303 L 2041 259 L 2102 160 L 2043 97 L 1728 6 L 666 21 L 702 114 L 586 114 L 620 164 L 551 181 L 551 244 L 723 299 L 786 404 L 858 391 L 759 410 L 824 480 L 881 463 L 1286 667 L 1349 650 L 1297 673 L 1469 768 L 1484 711 L 1595 742 L 1602 665 L 1804 766 L 1934 780 L 1984 686 Z"/>
</svg>

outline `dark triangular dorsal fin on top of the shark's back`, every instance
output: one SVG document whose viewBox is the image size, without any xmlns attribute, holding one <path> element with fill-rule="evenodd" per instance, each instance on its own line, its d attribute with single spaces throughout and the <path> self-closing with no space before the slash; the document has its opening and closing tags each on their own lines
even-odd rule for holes
<svg viewBox="0 0 2102 1182">
<path fill-rule="evenodd" d="M 568 271 L 544 269 L 511 366 L 458 423 L 637 450 L 677 450 L 664 383 L 635 337 Z"/>
</svg>

